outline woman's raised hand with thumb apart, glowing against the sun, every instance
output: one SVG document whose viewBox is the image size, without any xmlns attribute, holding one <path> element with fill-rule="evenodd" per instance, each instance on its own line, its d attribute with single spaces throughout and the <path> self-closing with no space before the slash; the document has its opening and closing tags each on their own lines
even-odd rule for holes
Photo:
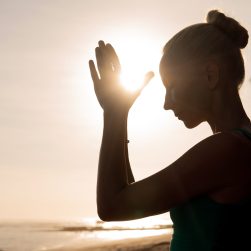
<svg viewBox="0 0 251 251">
<path fill-rule="evenodd" d="M 89 61 L 90 72 L 97 99 L 104 111 L 128 113 L 143 88 L 153 78 L 154 73 L 145 75 L 143 85 L 136 92 L 127 91 L 120 83 L 119 58 L 110 44 L 99 41 L 95 49 L 98 72 L 92 60 Z"/>
</svg>

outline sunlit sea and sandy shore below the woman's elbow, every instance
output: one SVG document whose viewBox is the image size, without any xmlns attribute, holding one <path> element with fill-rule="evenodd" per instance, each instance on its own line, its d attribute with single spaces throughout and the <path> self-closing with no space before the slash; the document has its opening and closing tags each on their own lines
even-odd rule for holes
<svg viewBox="0 0 251 251">
<path fill-rule="evenodd" d="M 0 251 L 167 251 L 172 231 L 168 218 L 156 217 L 129 222 L 2 222 Z"/>
</svg>

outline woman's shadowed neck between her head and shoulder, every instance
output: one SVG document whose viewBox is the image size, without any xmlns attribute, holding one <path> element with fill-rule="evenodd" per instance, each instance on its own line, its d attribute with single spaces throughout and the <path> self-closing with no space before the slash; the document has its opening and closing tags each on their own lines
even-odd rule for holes
<svg viewBox="0 0 251 251">
<path fill-rule="evenodd" d="M 228 132 L 236 128 L 251 127 L 237 90 L 218 91 L 214 94 L 208 123 L 213 133 Z"/>
</svg>

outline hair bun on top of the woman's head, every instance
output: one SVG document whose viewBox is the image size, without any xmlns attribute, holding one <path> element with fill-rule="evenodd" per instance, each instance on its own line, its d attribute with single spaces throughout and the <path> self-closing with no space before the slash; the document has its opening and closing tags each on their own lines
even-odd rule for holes
<svg viewBox="0 0 251 251">
<path fill-rule="evenodd" d="M 248 31 L 235 19 L 225 16 L 218 10 L 211 10 L 207 14 L 207 22 L 215 25 L 224 32 L 238 48 L 243 49 L 248 43 Z"/>
</svg>

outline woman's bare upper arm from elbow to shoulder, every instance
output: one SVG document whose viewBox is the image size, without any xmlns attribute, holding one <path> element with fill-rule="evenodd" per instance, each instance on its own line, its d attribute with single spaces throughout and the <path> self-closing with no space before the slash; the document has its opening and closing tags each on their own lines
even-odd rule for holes
<svg viewBox="0 0 251 251">
<path fill-rule="evenodd" d="M 202 140 L 171 165 L 123 188 L 107 210 L 106 220 L 164 213 L 196 196 L 229 187 L 243 177 L 239 167 L 250 163 L 250 145 L 244 137 L 232 133 Z"/>
</svg>

